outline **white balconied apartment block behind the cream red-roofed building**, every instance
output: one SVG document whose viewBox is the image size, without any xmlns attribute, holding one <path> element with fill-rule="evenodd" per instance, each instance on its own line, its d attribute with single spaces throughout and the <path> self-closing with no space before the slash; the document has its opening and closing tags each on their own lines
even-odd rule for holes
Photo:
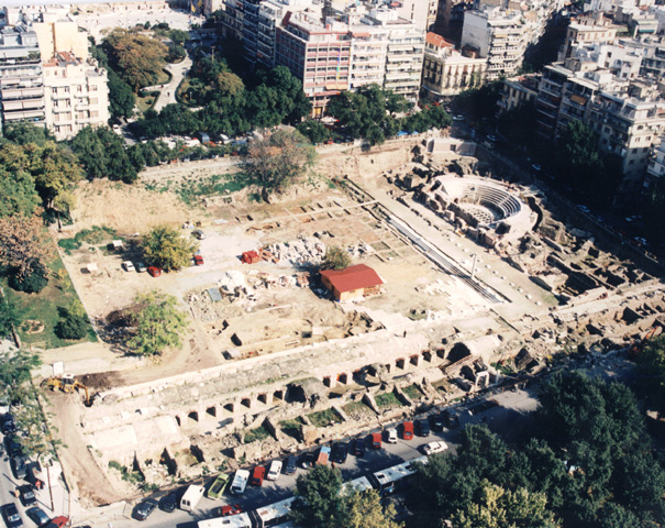
<svg viewBox="0 0 665 528">
<path fill-rule="evenodd" d="M 487 79 L 517 75 L 532 29 L 520 11 L 499 8 L 467 11 L 464 14 L 462 47 L 470 46 L 487 57 Z"/>
</svg>

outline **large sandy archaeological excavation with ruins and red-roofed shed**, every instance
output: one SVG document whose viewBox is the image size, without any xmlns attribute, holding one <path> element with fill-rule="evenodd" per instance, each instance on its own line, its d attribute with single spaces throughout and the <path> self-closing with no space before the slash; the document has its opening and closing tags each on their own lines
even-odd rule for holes
<svg viewBox="0 0 665 528">
<path fill-rule="evenodd" d="M 171 486 L 523 386 L 665 324 L 657 263 L 472 142 L 323 154 L 317 172 L 325 185 L 270 204 L 201 206 L 203 266 L 129 277 L 113 254 L 98 274 L 87 248 L 64 256 L 106 350 L 64 360 L 91 407 L 48 395 L 81 501 L 137 496 L 128 474 Z M 352 265 L 320 274 L 331 246 Z M 151 361 L 120 339 L 148 287 L 189 318 L 182 349 Z"/>
</svg>

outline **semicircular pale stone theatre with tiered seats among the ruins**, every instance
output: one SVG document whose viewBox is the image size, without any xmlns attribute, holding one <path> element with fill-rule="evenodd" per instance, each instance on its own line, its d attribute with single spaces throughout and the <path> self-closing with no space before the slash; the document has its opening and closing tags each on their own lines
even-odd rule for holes
<svg viewBox="0 0 665 528">
<path fill-rule="evenodd" d="M 521 237 L 533 226 L 532 211 L 507 185 L 478 176 L 437 176 L 423 189 L 428 205 L 451 211 L 475 228 Z M 448 215 L 450 217 L 451 215 Z"/>
</svg>

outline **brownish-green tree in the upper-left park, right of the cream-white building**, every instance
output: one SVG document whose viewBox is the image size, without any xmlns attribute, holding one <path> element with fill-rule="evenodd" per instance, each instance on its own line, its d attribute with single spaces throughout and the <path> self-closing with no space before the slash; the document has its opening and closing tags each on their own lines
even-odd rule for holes
<svg viewBox="0 0 665 528">
<path fill-rule="evenodd" d="M 166 46 L 156 38 L 120 28 L 104 38 L 103 48 L 109 66 L 134 91 L 157 82 L 167 54 Z"/>
</svg>

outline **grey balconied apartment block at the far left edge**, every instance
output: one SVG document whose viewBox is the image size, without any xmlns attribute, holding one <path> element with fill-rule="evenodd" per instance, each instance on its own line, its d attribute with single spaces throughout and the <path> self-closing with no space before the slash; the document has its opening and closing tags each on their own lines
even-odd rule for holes
<svg viewBox="0 0 665 528">
<path fill-rule="evenodd" d="M 24 25 L 0 30 L 1 124 L 45 122 L 42 58 L 37 35 Z"/>
</svg>

